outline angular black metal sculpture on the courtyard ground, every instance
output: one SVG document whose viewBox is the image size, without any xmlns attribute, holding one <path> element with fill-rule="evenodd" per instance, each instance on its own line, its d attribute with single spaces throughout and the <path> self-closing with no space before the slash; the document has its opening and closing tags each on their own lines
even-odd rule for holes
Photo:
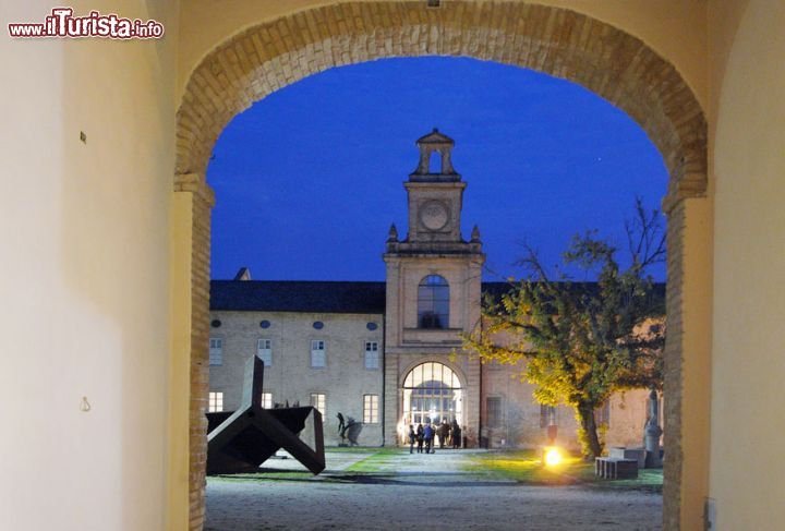
<svg viewBox="0 0 785 531">
<path fill-rule="evenodd" d="M 262 408 L 264 362 L 245 365 L 243 399 L 234 412 L 208 413 L 207 473 L 253 472 L 283 448 L 312 473 L 325 469 L 322 413 L 312 407 Z M 313 415 L 314 448 L 298 437 Z"/>
</svg>

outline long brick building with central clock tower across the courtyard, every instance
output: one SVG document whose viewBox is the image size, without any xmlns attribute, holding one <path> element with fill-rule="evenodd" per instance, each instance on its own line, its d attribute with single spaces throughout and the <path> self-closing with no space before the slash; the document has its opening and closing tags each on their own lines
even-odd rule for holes
<svg viewBox="0 0 785 531">
<path fill-rule="evenodd" d="M 559 444 L 577 447 L 571 409 L 541 407 L 518 377 L 522 364 L 461 353 L 483 293 L 509 286 L 482 282 L 480 231 L 461 234 L 467 183 L 450 160 L 452 140 L 434 130 L 416 144 L 420 162 L 404 183 L 409 233 L 390 227 L 386 281 L 255 281 L 241 269 L 212 282 L 210 409 L 237 408 L 245 361 L 259 355 L 265 402 L 317 407 L 328 445 L 339 442 L 340 412 L 363 422 L 369 446 L 400 444 L 409 424 L 456 420 L 472 447 L 534 447 L 553 424 Z M 641 445 L 645 400 L 628 391 L 597 411 L 609 445 Z"/>
</svg>

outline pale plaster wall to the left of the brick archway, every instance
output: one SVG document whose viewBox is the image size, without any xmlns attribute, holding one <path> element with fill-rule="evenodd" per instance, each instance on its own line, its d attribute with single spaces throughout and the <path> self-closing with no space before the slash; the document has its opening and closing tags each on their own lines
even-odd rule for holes
<svg viewBox="0 0 785 531">
<path fill-rule="evenodd" d="M 178 3 L 70 2 L 162 41 L 8 37 L 53 5 L 0 4 L 0 528 L 161 530 Z"/>
</svg>

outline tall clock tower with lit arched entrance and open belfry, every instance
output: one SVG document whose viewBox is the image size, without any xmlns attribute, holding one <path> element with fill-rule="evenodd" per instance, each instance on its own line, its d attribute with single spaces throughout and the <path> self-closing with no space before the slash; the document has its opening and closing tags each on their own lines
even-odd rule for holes
<svg viewBox="0 0 785 531">
<path fill-rule="evenodd" d="M 480 322 L 485 255 L 476 227 L 470 240 L 461 234 L 467 183 L 452 167 L 455 142 L 434 129 L 416 146 L 418 167 L 403 183 L 409 231 L 399 240 L 392 225 L 384 254 L 385 417 L 396 419 L 386 422 L 385 439 L 401 441 L 410 423 L 455 420 L 475 444 L 480 363 L 451 354 L 461 349 L 460 335 Z M 442 389 L 443 399 L 424 398 L 431 393 L 426 385 Z"/>
</svg>

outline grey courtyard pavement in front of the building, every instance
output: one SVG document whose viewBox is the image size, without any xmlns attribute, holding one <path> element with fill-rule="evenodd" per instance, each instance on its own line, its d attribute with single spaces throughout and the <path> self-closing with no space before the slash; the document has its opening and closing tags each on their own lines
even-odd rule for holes
<svg viewBox="0 0 785 531">
<path fill-rule="evenodd" d="M 659 530 L 662 495 L 532 486 L 470 468 L 483 450 L 327 451 L 313 476 L 294 459 L 207 480 L 207 531 Z"/>
</svg>

